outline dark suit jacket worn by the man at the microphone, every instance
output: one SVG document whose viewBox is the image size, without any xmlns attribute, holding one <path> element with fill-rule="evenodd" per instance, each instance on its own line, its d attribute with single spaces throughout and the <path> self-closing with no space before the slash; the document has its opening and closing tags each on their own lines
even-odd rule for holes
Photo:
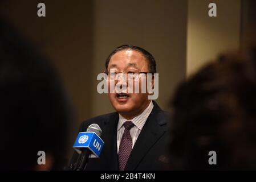
<svg viewBox="0 0 256 182">
<path fill-rule="evenodd" d="M 129 156 L 125 170 L 164 170 L 163 163 L 166 154 L 167 134 L 166 123 L 168 114 L 161 110 L 153 101 L 154 107 Z M 84 121 L 80 131 L 86 131 L 92 123 L 97 123 L 101 130 L 101 139 L 104 148 L 99 158 L 91 158 L 87 164 L 87 170 L 109 171 L 119 170 L 116 134 L 119 114 L 117 112 L 100 115 Z M 70 164 L 76 164 L 78 154 L 74 152 Z"/>
</svg>

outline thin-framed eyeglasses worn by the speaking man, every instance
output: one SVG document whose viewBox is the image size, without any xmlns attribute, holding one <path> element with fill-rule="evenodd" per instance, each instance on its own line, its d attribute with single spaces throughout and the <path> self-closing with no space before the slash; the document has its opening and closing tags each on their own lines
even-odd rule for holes
<svg viewBox="0 0 256 182">
<path fill-rule="evenodd" d="M 122 77 L 124 80 L 136 81 L 142 75 L 145 76 L 151 72 L 139 72 L 137 70 L 129 70 L 127 72 L 104 71 L 104 73 L 106 74 L 104 78 L 108 81 L 116 81 L 119 80 L 120 77 Z"/>
</svg>

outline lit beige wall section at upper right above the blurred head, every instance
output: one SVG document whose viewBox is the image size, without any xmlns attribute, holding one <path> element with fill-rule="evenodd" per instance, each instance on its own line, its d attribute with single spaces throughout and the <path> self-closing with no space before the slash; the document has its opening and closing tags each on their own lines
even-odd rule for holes
<svg viewBox="0 0 256 182">
<path fill-rule="evenodd" d="M 216 3 L 217 17 L 209 17 L 209 3 Z M 240 0 L 189 0 L 186 75 L 217 58 L 221 52 L 239 48 Z"/>
</svg>

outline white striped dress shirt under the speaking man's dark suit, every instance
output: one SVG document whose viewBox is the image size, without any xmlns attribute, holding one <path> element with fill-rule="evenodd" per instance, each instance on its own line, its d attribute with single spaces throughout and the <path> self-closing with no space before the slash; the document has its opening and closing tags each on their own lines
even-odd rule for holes
<svg viewBox="0 0 256 182">
<path fill-rule="evenodd" d="M 143 129 L 143 126 L 145 125 L 145 122 L 148 119 L 149 114 L 151 113 L 151 111 L 153 110 L 153 102 L 151 101 L 150 104 L 148 105 L 148 107 L 143 111 L 143 113 L 141 113 L 140 115 L 137 115 L 135 118 L 133 119 L 125 119 L 124 117 L 121 116 L 121 114 L 119 114 L 119 121 L 118 121 L 118 125 L 117 125 L 117 154 L 119 152 L 119 146 L 120 146 L 120 142 L 121 139 L 123 137 L 124 134 L 124 122 L 125 121 L 131 121 L 133 122 L 133 124 L 135 126 L 133 126 L 130 130 L 130 134 L 132 137 L 132 148 L 137 140 L 137 138 L 139 137 L 140 131 Z"/>
</svg>

